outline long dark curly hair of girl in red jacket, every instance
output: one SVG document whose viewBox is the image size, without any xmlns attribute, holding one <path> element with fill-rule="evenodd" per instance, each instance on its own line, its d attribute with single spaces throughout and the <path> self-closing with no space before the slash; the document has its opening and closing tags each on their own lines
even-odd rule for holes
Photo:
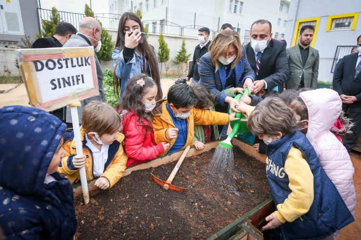
<svg viewBox="0 0 361 240">
<path fill-rule="evenodd" d="M 150 116 L 146 114 L 144 109 L 144 103 L 141 101 L 141 97 L 148 92 L 151 88 L 157 87 L 157 83 L 147 74 L 137 74 L 129 79 L 127 86 L 125 87 L 124 95 L 121 97 L 120 103 L 117 104 L 117 111 L 122 114 L 124 111 L 133 111 L 139 116 L 139 123 L 143 126 L 145 134 L 152 132 L 152 121 Z M 145 126 L 143 119 L 149 122 L 149 126 Z M 129 121 L 127 121 L 129 122 Z"/>
</svg>

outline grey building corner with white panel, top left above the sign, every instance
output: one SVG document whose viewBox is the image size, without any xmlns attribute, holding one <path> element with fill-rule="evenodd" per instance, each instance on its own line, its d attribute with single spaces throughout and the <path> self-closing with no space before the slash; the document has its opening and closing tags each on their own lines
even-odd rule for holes
<svg viewBox="0 0 361 240">
<path fill-rule="evenodd" d="M 29 36 L 34 41 L 39 33 L 37 0 L 0 0 L 0 47 L 20 45 Z"/>
</svg>

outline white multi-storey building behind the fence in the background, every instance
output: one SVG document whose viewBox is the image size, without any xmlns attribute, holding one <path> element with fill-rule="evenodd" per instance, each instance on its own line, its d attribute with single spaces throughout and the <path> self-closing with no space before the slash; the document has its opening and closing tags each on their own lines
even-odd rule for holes
<svg viewBox="0 0 361 240">
<path fill-rule="evenodd" d="M 109 0 L 111 14 L 140 9 L 149 33 L 197 37 L 199 27 L 208 27 L 213 38 L 223 23 L 230 23 L 244 43 L 249 41 L 251 25 L 258 19 L 272 23 L 274 36 L 276 32 L 279 36 L 284 34 L 288 7 L 287 0 Z"/>
</svg>

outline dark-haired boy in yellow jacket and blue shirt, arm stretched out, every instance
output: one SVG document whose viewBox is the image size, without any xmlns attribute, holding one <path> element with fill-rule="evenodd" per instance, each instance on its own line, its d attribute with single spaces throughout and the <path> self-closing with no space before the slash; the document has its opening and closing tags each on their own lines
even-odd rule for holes
<svg viewBox="0 0 361 240">
<path fill-rule="evenodd" d="M 195 125 L 225 125 L 229 121 L 238 120 L 236 113 L 214 112 L 194 109 L 197 97 L 192 87 L 177 84 L 170 87 L 167 99 L 157 102 L 152 111 L 152 124 L 156 143 L 167 142 L 169 147 L 164 153 L 184 149 L 194 142 Z"/>
</svg>

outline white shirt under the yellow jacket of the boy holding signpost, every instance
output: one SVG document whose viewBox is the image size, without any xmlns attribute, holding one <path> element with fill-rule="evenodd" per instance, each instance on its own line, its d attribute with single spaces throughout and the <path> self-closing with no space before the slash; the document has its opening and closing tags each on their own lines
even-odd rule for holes
<svg viewBox="0 0 361 240">
<path fill-rule="evenodd" d="M 85 134 L 86 146 L 90 148 L 93 153 L 93 175 L 94 177 L 100 177 L 104 172 L 104 165 L 108 160 L 108 144 L 101 145 L 101 149 L 98 150 L 97 147 L 93 145 L 93 143 L 88 139 L 88 135 Z"/>
</svg>

